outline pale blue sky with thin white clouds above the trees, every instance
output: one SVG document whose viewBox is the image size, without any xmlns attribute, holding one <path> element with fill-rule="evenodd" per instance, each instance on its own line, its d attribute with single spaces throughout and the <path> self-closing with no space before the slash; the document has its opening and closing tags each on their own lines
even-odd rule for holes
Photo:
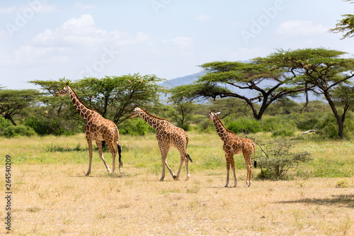
<svg viewBox="0 0 354 236">
<path fill-rule="evenodd" d="M 354 38 L 329 33 L 354 4 L 341 0 L 0 1 L 0 86 L 123 74 L 175 79 L 213 61 L 325 47 L 354 57 Z"/>
</svg>

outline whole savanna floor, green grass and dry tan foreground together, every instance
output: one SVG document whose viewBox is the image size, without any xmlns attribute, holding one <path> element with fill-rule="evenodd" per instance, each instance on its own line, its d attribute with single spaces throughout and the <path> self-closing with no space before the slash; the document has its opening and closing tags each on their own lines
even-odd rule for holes
<svg viewBox="0 0 354 236">
<path fill-rule="evenodd" d="M 251 188 L 244 187 L 246 167 L 237 155 L 238 185 L 224 188 L 222 141 L 216 133 L 188 134 L 190 180 L 184 181 L 183 168 L 181 180 L 166 172 L 163 182 L 153 134 L 121 135 L 122 174 L 108 174 L 94 150 L 89 177 L 84 134 L 0 138 L 2 195 L 4 157 L 11 155 L 13 234 L 354 235 L 353 141 L 304 136 L 293 151 L 311 152 L 312 162 L 300 164 L 286 181 L 258 179 L 260 170 L 253 168 Z M 270 140 L 267 133 L 255 136 Z M 109 151 L 104 155 L 111 168 Z M 175 148 L 168 162 L 176 174 Z M 6 233 L 4 223 L 0 233 Z"/>
</svg>

